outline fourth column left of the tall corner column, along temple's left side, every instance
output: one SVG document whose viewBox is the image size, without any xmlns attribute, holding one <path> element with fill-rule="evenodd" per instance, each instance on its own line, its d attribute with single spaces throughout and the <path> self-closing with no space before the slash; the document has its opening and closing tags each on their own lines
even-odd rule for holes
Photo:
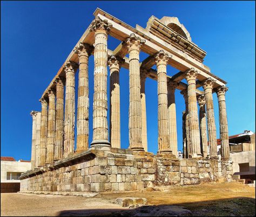
<svg viewBox="0 0 256 217">
<path fill-rule="evenodd" d="M 47 123 L 47 150 L 46 164 L 53 162 L 54 156 L 54 138 L 55 138 L 55 93 L 52 89 L 48 89 L 49 108 L 48 108 L 48 123 Z"/>
</svg>

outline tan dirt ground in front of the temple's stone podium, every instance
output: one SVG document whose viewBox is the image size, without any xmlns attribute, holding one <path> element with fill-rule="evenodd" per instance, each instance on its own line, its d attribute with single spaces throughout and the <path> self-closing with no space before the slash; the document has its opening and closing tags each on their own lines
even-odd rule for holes
<svg viewBox="0 0 256 217">
<path fill-rule="evenodd" d="M 129 208 L 113 204 L 119 197 L 146 198 L 148 205 L 176 205 L 193 216 L 254 216 L 255 188 L 240 183 L 172 186 L 165 191 L 101 193 L 93 198 L 1 193 L 1 216 L 112 216 L 127 214 Z M 135 208 L 136 209 L 136 208 Z"/>
</svg>

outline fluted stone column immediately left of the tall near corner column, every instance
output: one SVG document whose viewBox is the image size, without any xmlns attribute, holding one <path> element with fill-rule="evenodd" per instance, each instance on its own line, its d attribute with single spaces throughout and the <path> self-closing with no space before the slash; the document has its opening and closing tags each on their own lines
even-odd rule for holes
<svg viewBox="0 0 256 217">
<path fill-rule="evenodd" d="M 89 148 L 89 76 L 88 60 L 92 47 L 79 43 L 74 52 L 79 57 L 78 100 L 77 100 L 77 149 Z"/>
</svg>

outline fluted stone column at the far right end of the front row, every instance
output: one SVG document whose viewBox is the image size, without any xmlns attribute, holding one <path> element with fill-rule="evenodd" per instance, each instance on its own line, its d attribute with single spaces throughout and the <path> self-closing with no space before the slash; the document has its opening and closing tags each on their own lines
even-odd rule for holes
<svg viewBox="0 0 256 217">
<path fill-rule="evenodd" d="M 227 111 L 225 100 L 225 93 L 227 89 L 228 88 L 225 86 L 217 88 L 217 96 L 219 102 L 220 150 L 222 160 L 230 159 L 230 143 L 228 138 Z"/>
</svg>

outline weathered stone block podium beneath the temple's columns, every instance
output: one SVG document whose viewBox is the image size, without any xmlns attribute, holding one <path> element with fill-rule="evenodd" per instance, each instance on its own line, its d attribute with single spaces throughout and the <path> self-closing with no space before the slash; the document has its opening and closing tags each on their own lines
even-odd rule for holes
<svg viewBox="0 0 256 217">
<path fill-rule="evenodd" d="M 177 159 L 126 149 L 89 149 L 23 173 L 21 191 L 133 191 L 232 180 L 232 162 Z"/>
</svg>

